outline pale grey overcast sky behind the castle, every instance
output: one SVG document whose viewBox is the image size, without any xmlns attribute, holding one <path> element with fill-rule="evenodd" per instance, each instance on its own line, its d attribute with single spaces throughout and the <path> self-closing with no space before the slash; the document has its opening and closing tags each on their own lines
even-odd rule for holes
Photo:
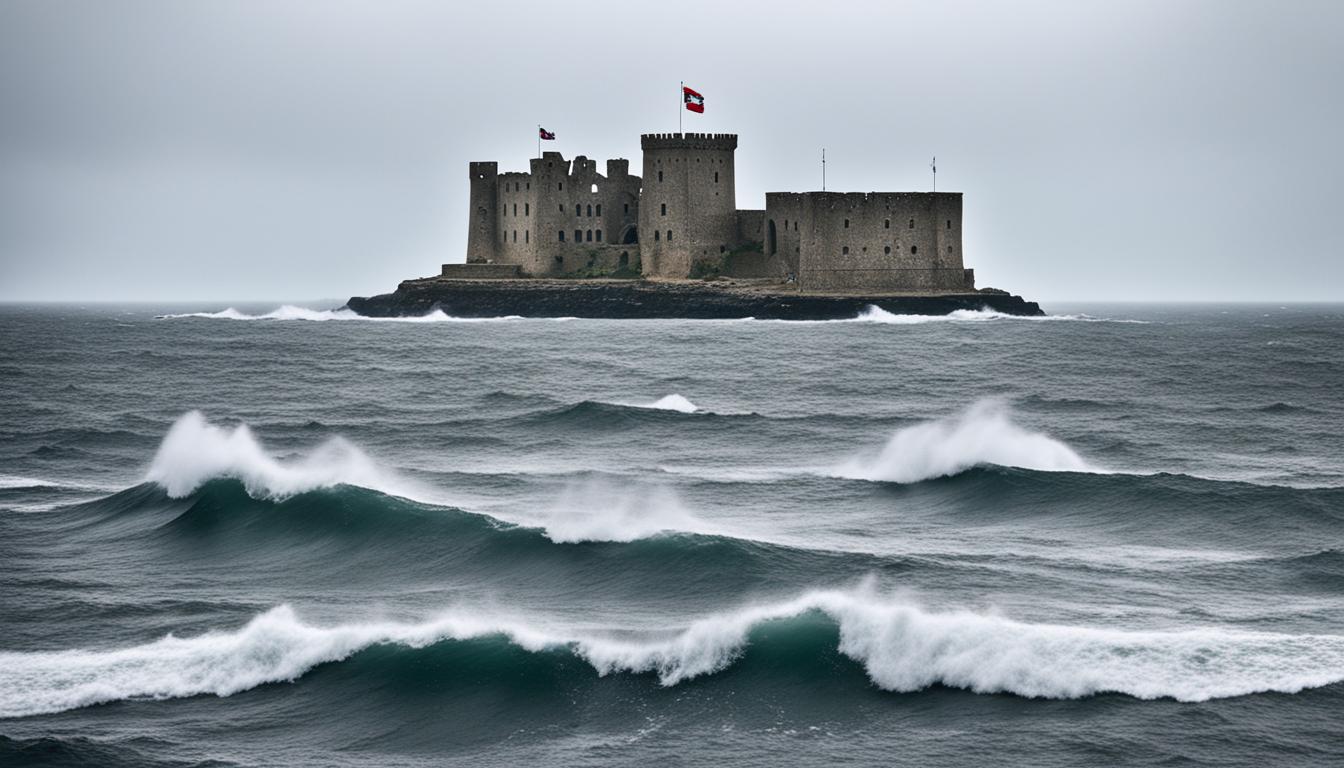
<svg viewBox="0 0 1344 768">
<path fill-rule="evenodd" d="M 462 261 L 466 164 L 739 135 L 965 192 L 980 285 L 1344 300 L 1344 1 L 0 1 L 0 300 L 309 300 Z"/>
</svg>

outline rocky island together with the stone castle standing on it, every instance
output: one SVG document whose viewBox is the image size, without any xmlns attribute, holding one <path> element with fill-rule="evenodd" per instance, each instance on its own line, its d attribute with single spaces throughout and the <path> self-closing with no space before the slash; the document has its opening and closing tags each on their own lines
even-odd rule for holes
<svg viewBox="0 0 1344 768">
<path fill-rule="evenodd" d="M 548 137 L 546 135 L 543 137 Z M 528 172 L 470 163 L 466 262 L 352 297 L 368 316 L 836 320 L 1035 301 L 974 286 L 961 192 L 767 192 L 739 210 L 731 133 L 641 137 L 628 160 L 544 152 Z"/>
</svg>

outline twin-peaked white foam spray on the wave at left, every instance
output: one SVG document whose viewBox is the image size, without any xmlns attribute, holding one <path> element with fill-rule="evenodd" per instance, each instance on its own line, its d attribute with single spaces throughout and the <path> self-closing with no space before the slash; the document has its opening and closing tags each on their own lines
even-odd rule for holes
<svg viewBox="0 0 1344 768">
<path fill-rule="evenodd" d="M 215 477 L 242 480 L 253 496 L 271 499 L 336 484 L 399 496 L 414 496 L 418 491 L 341 437 L 327 440 L 305 456 L 281 461 L 266 452 L 246 424 L 216 426 L 192 410 L 164 436 L 145 480 L 180 498 Z"/>
</svg>

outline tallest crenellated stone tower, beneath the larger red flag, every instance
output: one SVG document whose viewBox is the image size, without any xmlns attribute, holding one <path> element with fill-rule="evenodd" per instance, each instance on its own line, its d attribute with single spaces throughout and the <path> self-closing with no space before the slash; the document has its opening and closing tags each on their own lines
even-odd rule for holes
<svg viewBox="0 0 1344 768">
<path fill-rule="evenodd" d="M 685 278 L 700 258 L 737 245 L 734 133 L 645 133 L 640 194 L 644 273 Z"/>
</svg>

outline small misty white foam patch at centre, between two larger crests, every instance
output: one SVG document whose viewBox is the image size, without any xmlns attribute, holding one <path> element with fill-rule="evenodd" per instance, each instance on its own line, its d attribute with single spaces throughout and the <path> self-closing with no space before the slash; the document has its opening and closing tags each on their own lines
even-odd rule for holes
<svg viewBox="0 0 1344 768">
<path fill-rule="evenodd" d="M 685 508 L 669 487 L 617 486 L 606 477 L 570 483 L 540 515 L 516 522 L 542 529 L 556 543 L 630 542 L 665 533 L 722 534 Z"/>
</svg>

